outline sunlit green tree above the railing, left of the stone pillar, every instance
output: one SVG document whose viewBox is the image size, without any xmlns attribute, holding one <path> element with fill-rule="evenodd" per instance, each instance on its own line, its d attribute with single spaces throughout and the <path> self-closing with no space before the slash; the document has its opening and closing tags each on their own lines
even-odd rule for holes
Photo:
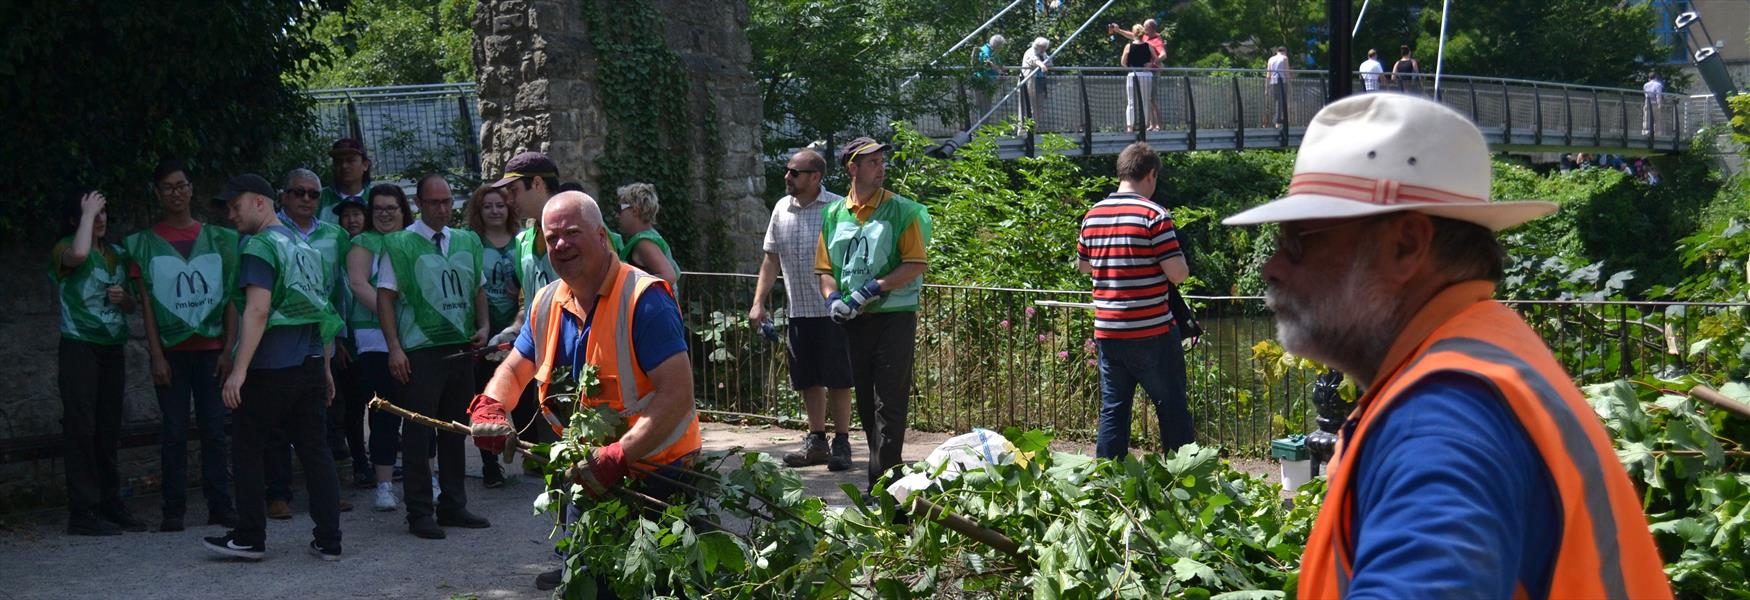
<svg viewBox="0 0 1750 600">
<path fill-rule="evenodd" d="M 312 37 L 331 58 L 304 87 L 474 80 L 474 2 L 352 0 L 322 14 Z"/>
</svg>

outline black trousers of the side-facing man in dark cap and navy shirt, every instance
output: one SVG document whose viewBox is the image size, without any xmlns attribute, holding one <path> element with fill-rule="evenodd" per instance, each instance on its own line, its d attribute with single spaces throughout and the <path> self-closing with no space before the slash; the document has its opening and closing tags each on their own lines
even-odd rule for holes
<svg viewBox="0 0 1750 600">
<path fill-rule="evenodd" d="M 266 542 L 268 513 L 262 451 L 271 439 L 290 441 L 304 465 L 310 520 L 318 544 L 340 544 L 340 478 L 327 448 L 327 380 L 322 357 L 285 369 L 250 369 L 243 402 L 231 413 L 231 464 L 236 467 L 236 541 Z"/>
</svg>

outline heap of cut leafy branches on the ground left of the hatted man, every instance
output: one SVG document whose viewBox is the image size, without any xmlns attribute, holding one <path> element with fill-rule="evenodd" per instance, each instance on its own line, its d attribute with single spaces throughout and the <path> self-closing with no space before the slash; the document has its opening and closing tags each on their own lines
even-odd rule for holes
<svg viewBox="0 0 1750 600">
<path fill-rule="evenodd" d="M 844 485 L 852 506 L 828 507 L 754 451 L 704 453 L 679 476 L 691 492 L 665 507 L 569 481 L 569 465 L 623 430 L 611 411 L 583 409 L 567 439 L 534 450 L 555 488 L 537 511 L 576 514 L 560 527 L 565 598 L 593 598 L 600 584 L 621 597 L 1281 598 L 1323 493 L 1306 486 L 1288 507 L 1281 486 L 1234 471 L 1214 448 L 1115 462 L 1010 430 L 1022 460 L 919 492 L 1017 541 L 1008 555 L 938 520 L 896 525 L 901 507 L 886 493 Z"/>
</svg>

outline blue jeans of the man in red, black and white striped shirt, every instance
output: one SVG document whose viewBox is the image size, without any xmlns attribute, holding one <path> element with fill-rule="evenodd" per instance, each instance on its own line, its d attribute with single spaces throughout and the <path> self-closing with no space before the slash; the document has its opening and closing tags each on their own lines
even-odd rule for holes
<svg viewBox="0 0 1750 600">
<path fill-rule="evenodd" d="M 1178 329 L 1141 339 L 1094 339 L 1099 346 L 1099 434 L 1094 455 L 1130 453 L 1130 401 L 1141 383 L 1155 402 L 1164 453 L 1195 441 L 1185 397 L 1185 348 Z"/>
</svg>

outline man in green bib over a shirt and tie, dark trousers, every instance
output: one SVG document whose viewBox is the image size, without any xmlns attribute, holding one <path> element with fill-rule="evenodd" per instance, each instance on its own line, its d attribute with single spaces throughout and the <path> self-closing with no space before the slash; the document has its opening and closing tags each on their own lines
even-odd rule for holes
<svg viewBox="0 0 1750 600">
<path fill-rule="evenodd" d="M 415 194 L 420 219 L 383 238 L 376 262 L 376 320 L 388 346 L 388 374 L 401 383 L 401 408 L 444 422 L 467 415 L 474 369 L 450 357 L 486 343 L 486 273 L 480 236 L 450 229 L 455 198 L 443 175 L 425 175 Z M 430 457 L 438 436 L 438 504 L 432 509 Z M 486 528 L 467 511 L 462 436 L 427 427 L 401 430 L 401 492 L 408 532 L 443 539 L 444 527 Z M 436 513 L 436 520 L 432 514 Z"/>
</svg>

